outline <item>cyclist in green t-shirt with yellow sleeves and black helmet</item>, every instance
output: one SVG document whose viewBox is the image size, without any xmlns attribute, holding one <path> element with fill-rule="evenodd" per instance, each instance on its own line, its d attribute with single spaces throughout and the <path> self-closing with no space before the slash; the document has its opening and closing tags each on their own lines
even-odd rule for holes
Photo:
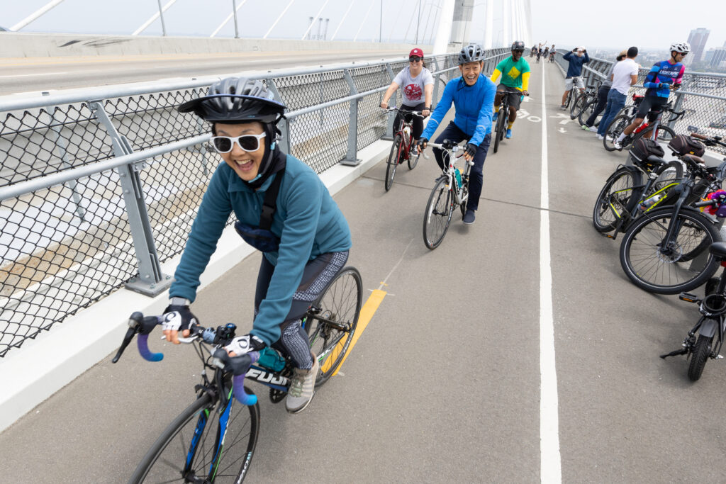
<svg viewBox="0 0 726 484">
<path fill-rule="evenodd" d="M 507 138 L 512 137 L 512 126 L 517 120 L 517 111 L 522 102 L 522 96 L 529 96 L 527 88 L 529 88 L 529 64 L 523 59 L 524 42 L 515 41 L 512 44 L 512 55 L 497 64 L 492 73 L 492 82 L 497 82 L 499 75 L 502 76 L 502 82 L 497 86 L 497 95 L 494 97 L 494 117 L 492 121 L 497 120 L 499 116 L 499 103 L 502 102 L 503 96 L 509 96 L 509 124 L 507 124 Z"/>
</svg>

